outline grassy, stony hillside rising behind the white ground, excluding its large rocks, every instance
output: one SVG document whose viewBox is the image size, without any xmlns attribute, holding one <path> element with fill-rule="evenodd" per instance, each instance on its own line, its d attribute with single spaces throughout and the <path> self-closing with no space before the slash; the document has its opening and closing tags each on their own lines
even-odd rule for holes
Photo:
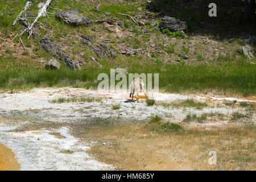
<svg viewBox="0 0 256 182">
<path fill-rule="evenodd" d="M 35 37 L 27 39 L 27 34 L 21 36 L 26 47 L 24 49 L 19 38 L 14 39 L 24 27 L 19 22 L 16 26 L 12 26 L 12 23 L 26 4 L 26 0 L 3 1 L 0 4 L 0 88 L 8 90 L 39 86 L 74 86 L 95 89 L 99 73 L 110 74 L 110 68 L 126 68 L 129 73 L 159 73 L 160 89 L 167 92 L 255 95 L 256 69 L 255 64 L 252 64 L 255 63 L 255 57 L 247 59 L 237 52 L 241 41 L 245 39 L 242 35 L 253 35 L 253 27 L 247 26 L 246 29 L 238 30 L 234 27 L 240 22 L 232 24 L 229 20 L 226 24 L 229 33 L 224 34 L 226 31 L 222 30 L 220 27 L 223 25 L 219 24 L 220 20 L 225 21 L 224 14 L 220 15 L 220 19 L 214 20 L 201 11 L 193 14 L 192 12 L 197 10 L 197 4 L 191 6 L 191 13 L 187 11 L 187 14 L 180 14 L 180 5 L 175 2 L 153 2 L 151 8 L 148 8 L 147 1 L 52 1 L 52 7 L 77 10 L 91 18 L 93 24 L 89 27 L 70 26 L 55 18 L 57 10 L 48 8 L 49 13 L 53 15 L 49 18 L 44 16 L 39 20 L 46 26 L 37 24 L 34 28 Z M 33 2 L 29 10 L 34 15 L 39 10 L 38 3 Z M 94 11 L 98 5 L 101 10 Z M 159 30 L 158 25 L 163 16 L 159 11 L 169 12 L 168 8 L 163 8 L 165 5 L 173 7 L 170 10 L 173 11 L 172 15 L 187 22 L 188 30 L 185 31 L 185 36 L 168 35 Z M 230 12 L 236 11 L 238 7 L 240 5 L 234 5 L 233 9 L 226 11 L 229 14 L 227 17 L 231 17 Z M 106 15 L 105 12 L 110 12 L 111 15 Z M 127 16 L 117 13 L 142 15 L 142 18 L 133 23 Z M 116 21 L 115 26 L 117 21 L 121 20 L 125 24 L 121 35 L 110 32 L 103 24 L 95 22 L 96 19 L 102 18 L 113 18 Z M 140 21 L 143 21 L 144 25 L 140 26 Z M 156 22 L 156 26 L 150 24 L 152 21 Z M 209 25 L 212 23 L 214 31 L 208 26 L 203 26 L 202 22 Z M 143 33 L 144 28 L 150 29 L 151 32 Z M 81 35 L 92 36 L 95 44 L 104 43 L 114 48 L 119 55 L 112 59 L 97 57 L 88 46 L 81 43 Z M 53 58 L 38 45 L 44 36 L 49 36 L 63 46 L 72 59 L 79 61 L 81 70 L 72 71 L 64 68 L 64 64 L 60 71 L 44 69 L 47 61 Z M 251 46 L 254 47 L 253 44 Z M 146 51 L 133 56 L 122 55 L 121 51 L 126 48 L 144 48 Z M 184 53 L 188 59 L 182 58 Z M 102 68 L 93 63 L 90 56 L 96 57 Z"/>
</svg>

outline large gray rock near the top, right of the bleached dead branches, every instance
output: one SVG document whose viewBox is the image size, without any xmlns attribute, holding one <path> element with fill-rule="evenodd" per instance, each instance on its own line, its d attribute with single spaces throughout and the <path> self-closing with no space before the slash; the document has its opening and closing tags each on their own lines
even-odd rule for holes
<svg viewBox="0 0 256 182">
<path fill-rule="evenodd" d="M 92 24 L 92 20 L 86 16 L 78 14 L 75 10 L 59 11 L 56 18 L 63 19 L 64 22 L 72 24 L 74 26 L 85 25 L 89 26 Z"/>
</svg>

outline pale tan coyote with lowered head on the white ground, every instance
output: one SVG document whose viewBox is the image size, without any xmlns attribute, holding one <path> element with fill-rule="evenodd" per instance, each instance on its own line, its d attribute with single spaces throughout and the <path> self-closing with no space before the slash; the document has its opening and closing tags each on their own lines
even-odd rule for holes
<svg viewBox="0 0 256 182">
<path fill-rule="evenodd" d="M 133 79 L 133 82 L 131 82 L 131 85 L 130 85 L 130 97 L 131 97 L 131 101 L 134 102 L 133 100 L 133 95 L 135 94 L 135 92 L 137 92 L 136 94 L 136 100 L 139 102 L 139 91 L 142 89 L 146 98 L 147 98 L 147 94 L 143 88 L 144 86 L 144 82 L 141 78 L 134 78 Z"/>
</svg>

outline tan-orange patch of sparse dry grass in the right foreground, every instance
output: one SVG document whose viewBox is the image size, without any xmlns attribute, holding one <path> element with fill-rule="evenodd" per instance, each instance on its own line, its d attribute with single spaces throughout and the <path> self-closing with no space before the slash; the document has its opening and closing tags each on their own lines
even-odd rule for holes
<svg viewBox="0 0 256 182">
<path fill-rule="evenodd" d="M 90 127 L 82 134 L 90 139 L 111 140 L 112 144 L 104 146 L 99 142 L 89 152 L 100 161 L 122 170 L 254 169 L 255 125 L 226 126 L 225 129 L 212 126 L 208 130 L 180 130 L 177 126 L 178 132 L 164 130 L 176 128 L 171 123 L 166 125 Z M 207 162 L 209 150 L 213 148 L 217 151 L 217 165 Z"/>
</svg>

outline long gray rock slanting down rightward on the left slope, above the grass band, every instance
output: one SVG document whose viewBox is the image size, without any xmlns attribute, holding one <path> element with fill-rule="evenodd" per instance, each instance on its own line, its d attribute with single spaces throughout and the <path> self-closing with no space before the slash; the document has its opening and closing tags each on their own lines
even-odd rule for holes
<svg viewBox="0 0 256 182">
<path fill-rule="evenodd" d="M 63 51 L 59 44 L 54 43 L 53 40 L 48 38 L 47 36 L 39 41 L 39 46 L 44 51 L 63 61 L 67 65 L 67 67 L 73 69 L 80 69 L 79 64 L 75 60 L 72 60 L 71 57 L 67 55 L 65 51 Z"/>
</svg>

